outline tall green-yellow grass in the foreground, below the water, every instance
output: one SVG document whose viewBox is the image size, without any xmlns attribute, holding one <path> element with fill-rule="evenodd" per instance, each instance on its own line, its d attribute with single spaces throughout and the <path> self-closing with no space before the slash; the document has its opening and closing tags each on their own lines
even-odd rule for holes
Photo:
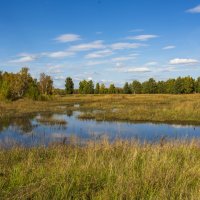
<svg viewBox="0 0 200 200">
<path fill-rule="evenodd" d="M 0 199 L 199 199 L 199 142 L 0 150 Z"/>
</svg>

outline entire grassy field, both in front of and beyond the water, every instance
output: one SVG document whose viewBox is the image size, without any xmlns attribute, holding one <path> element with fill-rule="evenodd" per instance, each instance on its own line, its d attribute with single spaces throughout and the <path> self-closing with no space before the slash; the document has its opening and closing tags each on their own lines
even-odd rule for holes
<svg viewBox="0 0 200 200">
<path fill-rule="evenodd" d="M 200 124 L 200 95 L 69 95 L 0 102 L 0 128 L 15 117 L 67 110 L 82 111 L 81 119 Z M 102 139 L 80 146 L 72 138 L 67 145 L 0 149 L 0 199 L 197 200 L 199 196 L 199 140 L 140 144 Z"/>
</svg>

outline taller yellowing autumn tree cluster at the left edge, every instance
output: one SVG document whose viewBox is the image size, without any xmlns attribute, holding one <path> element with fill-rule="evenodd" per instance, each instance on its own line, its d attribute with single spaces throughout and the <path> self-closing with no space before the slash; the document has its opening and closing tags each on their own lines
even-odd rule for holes
<svg viewBox="0 0 200 200">
<path fill-rule="evenodd" d="M 28 68 L 18 73 L 0 72 L 0 99 L 16 100 L 28 97 L 42 100 L 53 94 L 53 79 L 40 74 L 39 81 L 34 79 Z"/>
</svg>

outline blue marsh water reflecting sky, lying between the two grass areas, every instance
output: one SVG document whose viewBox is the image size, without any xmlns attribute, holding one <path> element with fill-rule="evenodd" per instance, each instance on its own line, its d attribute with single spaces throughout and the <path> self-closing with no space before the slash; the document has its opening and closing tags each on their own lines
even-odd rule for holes
<svg viewBox="0 0 200 200">
<path fill-rule="evenodd" d="M 82 141 L 107 137 L 111 141 L 120 138 L 141 142 L 200 137 L 200 126 L 81 120 L 79 115 L 79 111 L 67 111 L 4 119 L 0 124 L 0 146 L 48 145 L 73 137 Z"/>
</svg>

